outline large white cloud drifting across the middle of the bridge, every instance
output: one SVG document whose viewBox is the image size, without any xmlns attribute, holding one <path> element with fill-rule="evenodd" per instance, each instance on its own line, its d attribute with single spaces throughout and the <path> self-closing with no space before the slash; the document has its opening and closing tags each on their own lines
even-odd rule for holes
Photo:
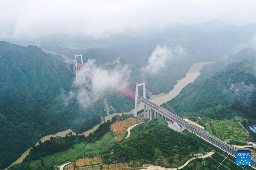
<svg viewBox="0 0 256 170">
<path fill-rule="evenodd" d="M 130 73 L 127 65 L 107 70 L 97 66 L 95 60 L 89 59 L 79 71 L 78 80 L 75 83 L 75 87 L 78 88 L 77 94 L 74 95 L 71 91 L 68 99 L 76 96 L 83 108 L 92 106 L 94 102 L 103 97 L 103 94 L 115 91 L 116 88 L 124 88 L 130 78 Z"/>
</svg>

